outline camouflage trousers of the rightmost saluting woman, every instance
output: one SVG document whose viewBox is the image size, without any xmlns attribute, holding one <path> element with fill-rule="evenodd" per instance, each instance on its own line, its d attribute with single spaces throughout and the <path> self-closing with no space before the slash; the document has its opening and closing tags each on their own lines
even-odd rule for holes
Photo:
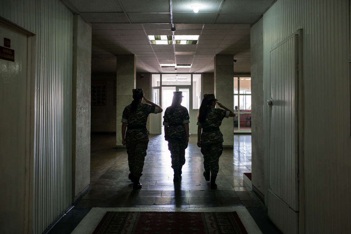
<svg viewBox="0 0 351 234">
<path fill-rule="evenodd" d="M 219 170 L 219 157 L 223 152 L 223 142 L 214 144 L 202 144 L 201 153 L 204 155 L 204 167 L 206 172 L 217 175 Z"/>
</svg>

